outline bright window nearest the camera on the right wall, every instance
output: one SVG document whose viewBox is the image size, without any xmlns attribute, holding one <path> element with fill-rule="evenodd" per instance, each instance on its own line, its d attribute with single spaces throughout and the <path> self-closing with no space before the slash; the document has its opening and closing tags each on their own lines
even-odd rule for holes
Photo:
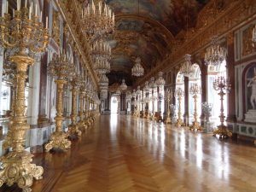
<svg viewBox="0 0 256 192">
<path fill-rule="evenodd" d="M 212 104 L 212 117 L 210 121 L 213 123 L 213 127 L 219 125 L 220 114 L 220 97 L 218 96 L 218 90 L 214 90 L 213 82 L 218 77 L 227 78 L 226 61 L 223 61 L 219 66 L 208 66 L 207 68 L 207 102 Z M 227 96 L 224 96 L 224 116 L 227 117 Z"/>
</svg>

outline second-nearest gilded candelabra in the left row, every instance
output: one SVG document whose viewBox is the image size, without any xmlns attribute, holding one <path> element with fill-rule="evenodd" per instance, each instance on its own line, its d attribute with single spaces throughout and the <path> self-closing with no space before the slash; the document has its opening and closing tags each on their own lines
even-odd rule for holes
<svg viewBox="0 0 256 192">
<path fill-rule="evenodd" d="M 67 61 L 66 55 L 54 55 L 52 61 L 49 62 L 49 75 L 55 79 L 56 83 L 56 116 L 55 116 L 55 132 L 50 136 L 49 142 L 45 144 L 44 148 L 47 152 L 50 149 L 56 148 L 66 151 L 70 148 L 71 142 L 67 140 L 68 134 L 62 130 L 63 117 L 63 87 L 67 84 L 67 77 L 71 73 L 72 65 Z"/>
</svg>

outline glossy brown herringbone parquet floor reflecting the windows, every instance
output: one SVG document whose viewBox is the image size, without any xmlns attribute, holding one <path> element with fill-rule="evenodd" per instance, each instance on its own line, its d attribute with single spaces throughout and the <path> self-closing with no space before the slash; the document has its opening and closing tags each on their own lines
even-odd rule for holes
<svg viewBox="0 0 256 192">
<path fill-rule="evenodd" d="M 125 115 L 102 115 L 67 153 L 34 161 L 34 192 L 256 192 L 255 147 Z"/>
</svg>

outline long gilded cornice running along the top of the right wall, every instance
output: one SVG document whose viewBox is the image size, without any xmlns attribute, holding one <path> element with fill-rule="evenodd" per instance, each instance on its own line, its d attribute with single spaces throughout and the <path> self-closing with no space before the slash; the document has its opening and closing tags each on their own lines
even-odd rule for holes
<svg viewBox="0 0 256 192">
<path fill-rule="evenodd" d="M 211 10 L 209 6 L 201 10 L 201 26 L 196 25 L 193 30 L 189 30 L 188 36 L 190 38 L 184 41 L 183 44 L 180 44 L 154 70 L 144 75 L 142 79 L 139 79 L 135 86 L 143 84 L 159 71 L 168 71 L 172 70 L 173 67 L 177 67 L 183 61 L 184 54 L 195 55 L 206 49 L 214 34 L 218 34 L 220 38 L 226 38 L 230 32 L 234 32 L 241 26 L 256 19 L 256 1 L 253 0 L 236 0 L 230 3 L 228 7 L 218 13 L 216 20 L 212 20 L 209 10 Z"/>
</svg>

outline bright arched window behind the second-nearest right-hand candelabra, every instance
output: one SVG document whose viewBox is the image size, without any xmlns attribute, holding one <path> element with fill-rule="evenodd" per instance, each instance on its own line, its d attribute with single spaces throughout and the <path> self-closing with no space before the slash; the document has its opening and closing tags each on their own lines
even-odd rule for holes
<svg viewBox="0 0 256 192">
<path fill-rule="evenodd" d="M 198 64 L 192 65 L 194 69 L 194 73 L 189 76 L 189 90 L 190 87 L 193 86 L 193 84 L 197 84 L 198 87 L 201 89 L 201 69 Z M 195 102 L 193 95 L 190 94 L 189 91 L 189 124 L 192 124 L 194 121 L 194 113 L 195 113 Z M 200 118 L 201 116 L 201 92 L 200 94 L 197 95 L 197 102 L 196 102 L 196 107 L 197 107 L 197 117 Z M 199 120 L 199 119 L 198 119 Z"/>
</svg>

